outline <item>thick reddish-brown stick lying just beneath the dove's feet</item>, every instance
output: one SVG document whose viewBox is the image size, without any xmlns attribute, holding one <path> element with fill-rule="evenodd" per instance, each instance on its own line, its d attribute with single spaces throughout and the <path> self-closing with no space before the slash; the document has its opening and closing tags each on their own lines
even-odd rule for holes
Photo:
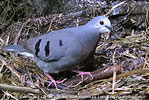
<svg viewBox="0 0 149 100">
<path fill-rule="evenodd" d="M 76 76 L 67 80 L 64 84 L 67 85 L 68 87 L 77 87 L 81 84 L 87 84 L 92 81 L 110 77 L 113 74 L 114 70 L 116 73 L 121 73 L 123 69 L 121 65 L 113 65 L 111 67 L 101 68 L 91 72 L 93 79 L 89 76 L 84 76 L 84 81 L 82 81 L 80 76 Z"/>
</svg>

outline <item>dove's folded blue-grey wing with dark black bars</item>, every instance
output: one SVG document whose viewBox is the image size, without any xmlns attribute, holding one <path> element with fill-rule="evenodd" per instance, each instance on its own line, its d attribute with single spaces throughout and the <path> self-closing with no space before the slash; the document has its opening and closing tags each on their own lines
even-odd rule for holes
<svg viewBox="0 0 149 100">
<path fill-rule="evenodd" d="M 75 42 L 75 46 L 72 46 L 73 42 Z M 33 52 L 34 56 L 40 60 L 49 62 L 58 61 L 62 57 L 68 56 L 68 53 L 72 54 L 77 49 L 77 42 L 71 31 L 63 30 L 31 38 L 25 42 L 23 47 Z M 79 49 L 77 50 L 79 51 Z M 73 55 L 78 55 L 78 51 Z"/>
</svg>

